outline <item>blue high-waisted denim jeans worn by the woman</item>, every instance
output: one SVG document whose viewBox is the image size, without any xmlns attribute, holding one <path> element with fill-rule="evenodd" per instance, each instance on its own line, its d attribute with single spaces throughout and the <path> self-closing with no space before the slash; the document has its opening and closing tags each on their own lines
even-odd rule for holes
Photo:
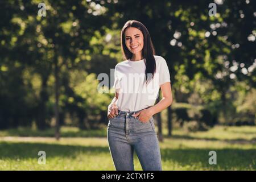
<svg viewBox="0 0 256 182">
<path fill-rule="evenodd" d="M 120 111 L 109 119 L 108 144 L 117 171 L 134 171 L 134 150 L 144 171 L 162 171 L 154 118 L 146 123 L 134 118 L 138 111 Z"/>
</svg>

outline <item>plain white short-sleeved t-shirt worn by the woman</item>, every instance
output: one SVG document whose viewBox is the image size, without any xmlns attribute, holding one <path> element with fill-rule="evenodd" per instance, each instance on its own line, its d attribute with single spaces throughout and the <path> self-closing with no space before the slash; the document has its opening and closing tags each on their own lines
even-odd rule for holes
<svg viewBox="0 0 256 182">
<path fill-rule="evenodd" d="M 116 102 L 121 111 L 137 111 L 155 104 L 160 85 L 170 81 L 170 72 L 166 60 L 161 56 L 155 57 L 156 72 L 148 85 L 144 59 L 138 61 L 122 61 L 115 65 L 113 88 L 119 93 Z"/>
</svg>

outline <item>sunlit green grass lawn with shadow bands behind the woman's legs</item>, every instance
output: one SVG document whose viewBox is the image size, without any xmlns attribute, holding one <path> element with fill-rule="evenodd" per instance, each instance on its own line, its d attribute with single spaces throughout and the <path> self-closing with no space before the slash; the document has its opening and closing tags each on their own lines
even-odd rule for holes
<svg viewBox="0 0 256 182">
<path fill-rule="evenodd" d="M 0 131 L 0 169 L 114 170 L 106 128 L 80 131 L 63 127 L 59 141 L 53 134 L 52 129 Z M 255 170 L 256 126 L 216 126 L 196 133 L 174 130 L 173 137 L 165 136 L 160 143 L 160 150 L 163 170 Z M 216 165 L 208 163 L 211 150 L 217 152 Z M 45 165 L 38 164 L 38 151 L 46 151 Z M 142 170 L 136 155 L 134 164 L 136 170 Z"/>
</svg>

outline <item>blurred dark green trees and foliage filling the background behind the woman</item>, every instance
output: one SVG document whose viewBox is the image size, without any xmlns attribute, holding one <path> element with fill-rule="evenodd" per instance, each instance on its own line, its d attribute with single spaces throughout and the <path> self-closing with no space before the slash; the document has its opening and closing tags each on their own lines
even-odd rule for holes
<svg viewBox="0 0 256 182">
<path fill-rule="evenodd" d="M 110 84 L 129 19 L 148 28 L 170 69 L 174 102 L 155 117 L 160 134 L 255 125 L 255 1 L 44 1 L 46 17 L 38 3 L 0 2 L 0 129 L 55 126 L 59 138 L 60 126 L 106 125 L 114 94 L 98 92 L 97 76 Z"/>
</svg>

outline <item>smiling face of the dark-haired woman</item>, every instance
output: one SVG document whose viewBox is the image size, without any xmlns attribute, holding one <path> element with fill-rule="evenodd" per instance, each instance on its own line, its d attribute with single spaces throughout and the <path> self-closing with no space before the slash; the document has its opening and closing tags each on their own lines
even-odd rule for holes
<svg viewBox="0 0 256 182">
<path fill-rule="evenodd" d="M 144 46 L 142 31 L 138 28 L 129 27 L 125 31 L 125 45 L 131 53 L 141 56 Z"/>
</svg>

